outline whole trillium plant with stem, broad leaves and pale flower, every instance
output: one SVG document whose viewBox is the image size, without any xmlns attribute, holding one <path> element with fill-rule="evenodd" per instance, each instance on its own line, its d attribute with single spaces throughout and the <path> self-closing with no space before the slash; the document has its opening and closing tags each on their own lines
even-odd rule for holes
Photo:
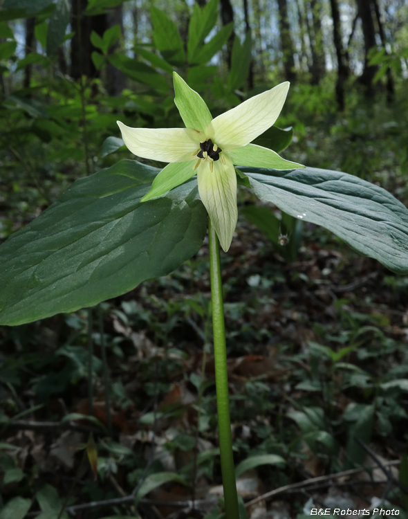
<svg viewBox="0 0 408 519">
<path fill-rule="evenodd" d="M 209 217 L 227 519 L 238 519 L 239 511 L 219 243 L 228 251 L 232 242 L 237 182 L 289 215 L 328 228 L 391 271 L 408 273 L 408 210 L 390 193 L 358 177 L 304 167 L 251 144 L 277 120 L 288 87 L 279 84 L 213 119 L 201 96 L 174 73 L 175 102 L 185 128 L 129 128 L 118 122 L 131 152 L 169 164 L 160 171 L 124 160 L 77 180 L 0 247 L 0 324 L 19 325 L 91 307 L 174 271 L 203 244 Z"/>
</svg>

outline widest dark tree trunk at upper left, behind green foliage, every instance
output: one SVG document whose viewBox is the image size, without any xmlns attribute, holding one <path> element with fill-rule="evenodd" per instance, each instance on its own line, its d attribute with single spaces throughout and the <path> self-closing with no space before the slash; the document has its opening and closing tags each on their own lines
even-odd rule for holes
<svg viewBox="0 0 408 519">
<path fill-rule="evenodd" d="M 75 34 L 71 40 L 71 77 L 75 80 L 81 75 L 88 78 L 99 75 L 91 59 L 91 53 L 97 49 L 90 38 L 93 30 L 102 37 L 108 28 L 106 15 L 84 16 L 87 3 L 87 0 L 72 0 L 71 26 Z"/>
</svg>

